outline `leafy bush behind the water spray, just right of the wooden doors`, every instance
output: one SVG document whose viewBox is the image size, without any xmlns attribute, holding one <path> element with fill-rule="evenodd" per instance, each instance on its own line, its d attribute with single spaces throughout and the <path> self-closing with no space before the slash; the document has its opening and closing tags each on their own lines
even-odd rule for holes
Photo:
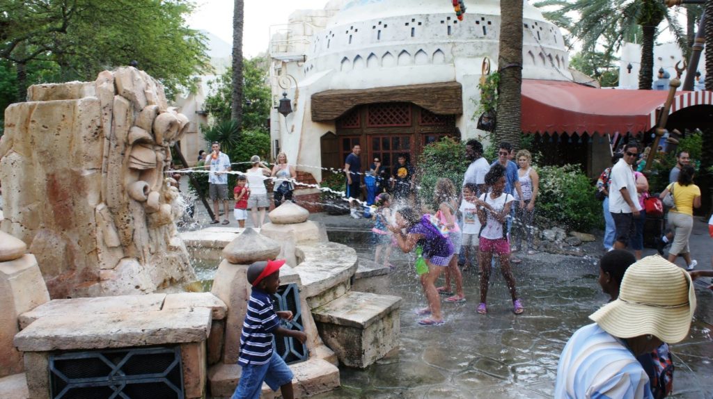
<svg viewBox="0 0 713 399">
<path fill-rule="evenodd" d="M 451 137 L 443 137 L 438 142 L 433 142 L 424 147 L 418 164 L 416 178 L 419 181 L 419 198 L 427 205 L 435 207 L 434 188 L 436 181 L 447 177 L 453 181 L 456 190 L 460 193 L 463 175 L 468 169 L 466 161 L 466 145 Z"/>
</svg>

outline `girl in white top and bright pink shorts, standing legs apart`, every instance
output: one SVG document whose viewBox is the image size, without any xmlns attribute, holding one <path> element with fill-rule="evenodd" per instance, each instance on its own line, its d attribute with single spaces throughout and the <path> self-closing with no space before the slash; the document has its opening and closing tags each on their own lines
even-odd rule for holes
<svg viewBox="0 0 713 399">
<path fill-rule="evenodd" d="M 503 192 L 505 179 L 505 168 L 500 164 L 494 164 L 486 174 L 486 184 L 490 186 L 490 191 L 473 199 L 473 203 L 478 206 L 478 219 L 483 226 L 480 238 L 480 259 L 478 260 L 481 267 L 481 303 L 478 305 L 477 312 L 480 314 L 488 312 L 486 303 L 493 255 L 498 255 L 500 260 L 501 272 L 513 298 L 513 312 L 515 314 L 523 312 L 523 304 L 518 299 L 518 293 L 515 290 L 515 277 L 510 267 L 510 243 L 506 236 L 507 232 L 503 228 L 506 218 L 510 215 L 511 204 L 515 199 L 511 194 Z"/>
</svg>

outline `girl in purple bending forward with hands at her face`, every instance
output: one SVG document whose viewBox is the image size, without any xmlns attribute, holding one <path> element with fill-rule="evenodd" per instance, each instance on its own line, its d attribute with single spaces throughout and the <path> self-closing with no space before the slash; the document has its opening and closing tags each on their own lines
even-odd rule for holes
<svg viewBox="0 0 713 399">
<path fill-rule="evenodd" d="M 406 233 L 404 233 L 404 230 Z M 429 306 L 420 309 L 418 314 L 431 314 L 419 321 L 422 326 L 443 325 L 441 300 L 438 298 L 435 282 L 441 270 L 448 267 L 453 257 L 453 244 L 448 239 L 448 233 L 438 228 L 438 220 L 429 214 L 421 216 L 413 208 L 404 207 L 396 211 L 395 223 L 389 225 L 394 233 L 396 244 L 404 252 L 411 252 L 416 246 L 423 251 L 421 256 L 426 261 L 428 271 L 421 275 L 421 286 L 424 287 Z"/>
</svg>

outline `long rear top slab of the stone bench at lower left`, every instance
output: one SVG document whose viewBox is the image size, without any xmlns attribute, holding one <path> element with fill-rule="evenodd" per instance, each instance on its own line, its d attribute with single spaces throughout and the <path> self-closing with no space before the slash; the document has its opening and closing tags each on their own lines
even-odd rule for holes
<svg viewBox="0 0 713 399">
<path fill-rule="evenodd" d="M 20 329 L 26 329 L 33 321 L 48 316 L 65 316 L 66 319 L 82 319 L 88 315 L 106 313 L 132 313 L 158 311 L 163 307 L 166 294 L 125 295 L 122 297 L 96 297 L 76 299 L 53 299 L 46 304 L 20 315 Z M 217 299 L 217 298 L 216 298 Z"/>
</svg>

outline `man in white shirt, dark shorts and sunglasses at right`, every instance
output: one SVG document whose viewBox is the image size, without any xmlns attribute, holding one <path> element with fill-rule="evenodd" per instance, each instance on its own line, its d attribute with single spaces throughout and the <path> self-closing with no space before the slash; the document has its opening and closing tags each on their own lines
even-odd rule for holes
<svg viewBox="0 0 713 399">
<path fill-rule="evenodd" d="M 610 174 L 609 211 L 616 227 L 614 248 L 617 250 L 625 249 L 634 236 L 634 219 L 639 217 L 641 211 L 632 169 L 638 154 L 639 147 L 635 142 L 625 144 L 624 157 L 612 167 Z"/>
</svg>

